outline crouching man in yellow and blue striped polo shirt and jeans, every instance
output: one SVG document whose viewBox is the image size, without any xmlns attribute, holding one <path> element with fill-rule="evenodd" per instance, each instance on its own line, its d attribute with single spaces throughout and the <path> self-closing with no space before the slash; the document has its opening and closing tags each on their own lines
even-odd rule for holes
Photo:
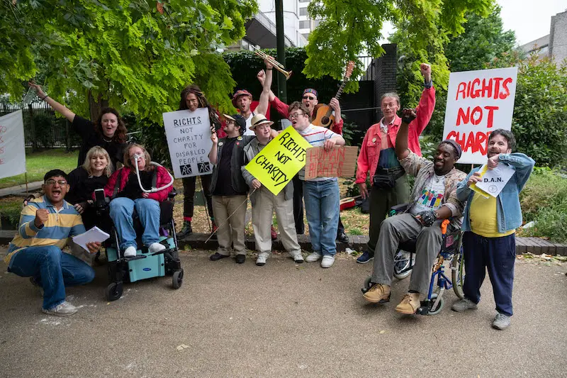
<svg viewBox="0 0 567 378">
<path fill-rule="evenodd" d="M 50 315 L 68 316 L 77 308 L 65 301 L 65 287 L 87 284 L 94 279 L 94 270 L 77 257 L 62 252 L 67 238 L 85 232 L 81 216 L 64 200 L 69 190 L 67 174 L 53 169 L 43 177 L 45 192 L 28 201 L 23 208 L 18 233 L 11 241 L 4 262 L 8 271 L 30 277 L 34 286 L 43 289 L 41 311 Z M 101 243 L 87 243 L 96 253 Z"/>
</svg>

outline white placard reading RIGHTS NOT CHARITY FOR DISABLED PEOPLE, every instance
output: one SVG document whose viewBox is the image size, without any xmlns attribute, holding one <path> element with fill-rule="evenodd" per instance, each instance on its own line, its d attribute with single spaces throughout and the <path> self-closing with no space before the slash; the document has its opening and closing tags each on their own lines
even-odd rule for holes
<svg viewBox="0 0 567 378">
<path fill-rule="evenodd" d="M 208 109 L 170 111 L 163 117 L 175 178 L 213 173 L 208 160 L 213 147 Z"/>
</svg>

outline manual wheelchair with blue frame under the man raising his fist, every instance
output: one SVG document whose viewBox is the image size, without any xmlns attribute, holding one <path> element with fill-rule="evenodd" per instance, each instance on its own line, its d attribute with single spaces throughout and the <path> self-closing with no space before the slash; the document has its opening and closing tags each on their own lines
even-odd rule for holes
<svg viewBox="0 0 567 378">
<path fill-rule="evenodd" d="M 400 204 L 393 206 L 389 216 L 405 213 L 409 208 L 409 204 Z M 416 219 L 417 221 L 417 219 Z M 432 266 L 432 275 L 430 281 L 430 289 L 427 292 L 427 299 L 421 301 L 420 308 L 416 313 L 420 315 L 437 315 L 444 304 L 443 294 L 445 290 L 453 289 L 459 299 L 464 298 L 464 253 L 462 248 L 462 233 L 459 228 L 451 225 L 449 219 L 445 219 L 441 224 L 442 242 L 437 260 Z M 393 275 L 397 279 L 404 279 L 410 275 L 414 262 L 417 240 L 408 240 L 398 245 L 398 251 L 394 257 Z M 451 279 L 444 272 L 444 262 L 450 262 Z M 437 285 L 435 281 L 437 279 Z M 371 287 L 371 277 L 367 277 L 364 281 L 364 287 L 361 289 L 366 293 Z"/>
</svg>

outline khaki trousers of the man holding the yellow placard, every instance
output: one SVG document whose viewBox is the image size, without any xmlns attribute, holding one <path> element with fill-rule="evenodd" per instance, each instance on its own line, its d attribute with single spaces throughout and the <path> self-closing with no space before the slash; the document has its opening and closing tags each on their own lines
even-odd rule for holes
<svg viewBox="0 0 567 378">
<path fill-rule="evenodd" d="M 254 228 L 254 238 L 256 239 L 258 252 L 271 252 L 270 226 L 274 210 L 276 211 L 278 230 L 283 248 L 286 248 L 288 252 L 301 252 L 297 242 L 296 223 L 293 220 L 293 199 L 286 201 L 283 190 L 277 196 L 274 196 L 266 187 L 257 189 L 254 196 L 252 228 Z"/>
</svg>

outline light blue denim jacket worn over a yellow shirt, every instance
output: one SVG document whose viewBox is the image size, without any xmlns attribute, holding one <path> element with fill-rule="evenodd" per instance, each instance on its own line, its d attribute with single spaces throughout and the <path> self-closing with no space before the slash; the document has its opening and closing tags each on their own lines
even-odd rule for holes
<svg viewBox="0 0 567 378">
<path fill-rule="evenodd" d="M 506 183 L 504 189 L 500 191 L 496 197 L 496 219 L 498 220 L 498 232 L 505 233 L 509 230 L 515 230 L 522 226 L 522 209 L 520 208 L 520 191 L 529 179 L 529 175 L 534 169 L 534 160 L 522 153 L 515 152 L 512 154 L 500 154 L 498 157 L 500 162 L 512 166 L 515 169 L 515 174 L 512 175 L 510 180 Z M 474 172 L 477 172 L 481 167 L 474 168 L 466 176 L 466 179 L 459 182 L 456 189 L 456 195 L 461 201 L 467 201 L 464 213 L 463 228 L 464 231 L 471 230 L 471 220 L 468 217 L 471 200 L 473 199 L 474 191 L 466 185 L 468 178 Z"/>
</svg>

